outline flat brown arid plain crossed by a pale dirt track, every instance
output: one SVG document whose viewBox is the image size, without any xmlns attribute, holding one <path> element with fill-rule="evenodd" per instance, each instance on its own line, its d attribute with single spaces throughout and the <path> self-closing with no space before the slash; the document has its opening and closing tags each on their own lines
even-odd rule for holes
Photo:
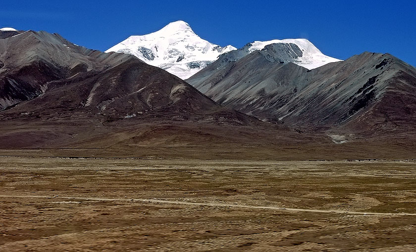
<svg viewBox="0 0 416 252">
<path fill-rule="evenodd" d="M 416 251 L 416 163 L 0 157 L 0 251 Z"/>
</svg>

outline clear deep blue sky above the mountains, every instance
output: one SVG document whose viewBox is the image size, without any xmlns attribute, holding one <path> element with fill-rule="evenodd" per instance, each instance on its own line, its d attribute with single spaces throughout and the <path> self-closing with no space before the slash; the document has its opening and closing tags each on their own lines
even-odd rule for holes
<svg viewBox="0 0 416 252">
<path fill-rule="evenodd" d="M 0 28 L 59 33 L 103 51 L 130 35 L 148 34 L 176 20 L 220 45 L 305 38 L 332 57 L 389 52 L 416 66 L 415 0 L 4 0 L 0 4 Z"/>
</svg>

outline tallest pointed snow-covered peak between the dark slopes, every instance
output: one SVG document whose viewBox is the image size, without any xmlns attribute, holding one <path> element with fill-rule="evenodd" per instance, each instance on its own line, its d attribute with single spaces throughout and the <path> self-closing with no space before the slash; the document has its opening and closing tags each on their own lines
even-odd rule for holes
<svg viewBox="0 0 416 252">
<path fill-rule="evenodd" d="M 219 46 L 201 39 L 188 23 L 169 23 L 157 32 L 130 36 L 105 52 L 132 54 L 185 80 L 215 61 L 222 53 L 235 50 L 231 45 Z"/>
</svg>

